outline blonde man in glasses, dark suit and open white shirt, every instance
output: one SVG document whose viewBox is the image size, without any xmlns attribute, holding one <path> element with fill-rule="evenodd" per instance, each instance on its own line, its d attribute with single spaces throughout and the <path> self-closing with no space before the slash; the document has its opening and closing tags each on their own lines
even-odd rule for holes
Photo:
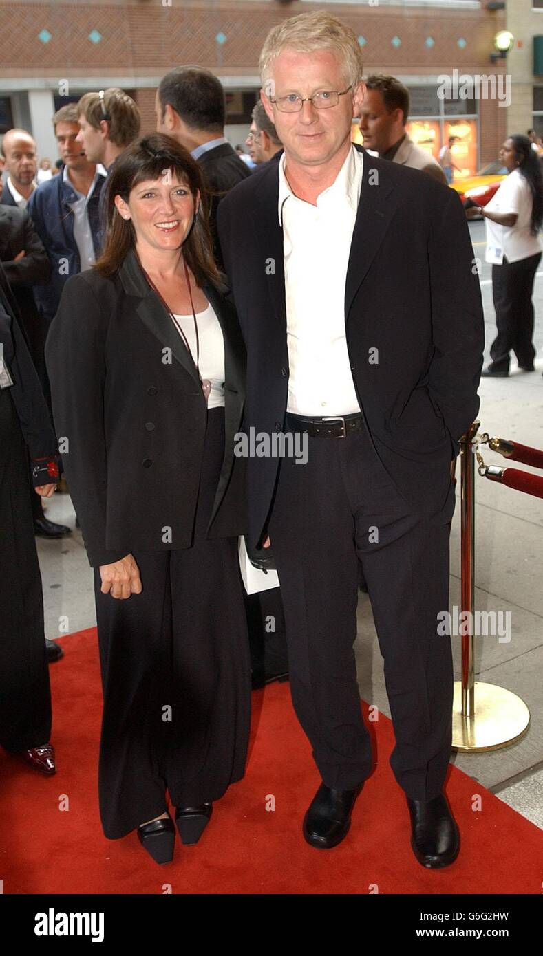
<svg viewBox="0 0 543 956">
<path fill-rule="evenodd" d="M 303 834 L 336 846 L 373 768 L 353 653 L 361 561 L 411 845 L 442 867 L 460 845 L 443 793 L 451 646 L 438 633 L 450 465 L 479 406 L 484 344 L 466 218 L 453 190 L 351 142 L 362 63 L 337 17 L 284 20 L 260 68 L 284 154 L 229 193 L 218 226 L 248 351 L 246 426 L 307 442 L 306 464 L 248 462 L 250 541 L 271 541 L 293 706 L 322 778 Z"/>
</svg>

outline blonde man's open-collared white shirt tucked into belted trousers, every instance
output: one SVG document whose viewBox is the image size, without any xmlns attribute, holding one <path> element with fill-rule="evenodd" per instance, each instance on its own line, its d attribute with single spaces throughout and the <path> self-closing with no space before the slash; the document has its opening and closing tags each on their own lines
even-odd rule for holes
<svg viewBox="0 0 543 956">
<path fill-rule="evenodd" d="M 279 163 L 289 349 L 287 411 L 335 416 L 360 411 L 345 336 L 345 278 L 362 185 L 363 157 L 351 146 L 316 206 L 294 196 Z"/>
</svg>

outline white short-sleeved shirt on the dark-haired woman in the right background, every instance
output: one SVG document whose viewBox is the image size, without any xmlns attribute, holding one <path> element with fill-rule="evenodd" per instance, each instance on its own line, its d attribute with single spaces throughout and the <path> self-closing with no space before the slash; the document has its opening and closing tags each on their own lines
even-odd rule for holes
<svg viewBox="0 0 543 956">
<path fill-rule="evenodd" d="M 513 169 L 506 176 L 491 200 L 485 206 L 489 212 L 516 212 L 518 219 L 514 226 L 498 226 L 485 217 L 487 227 L 487 262 L 501 265 L 504 255 L 508 262 L 518 262 L 541 251 L 538 235 L 532 235 L 530 220 L 532 217 L 532 190 L 519 169 Z"/>
</svg>

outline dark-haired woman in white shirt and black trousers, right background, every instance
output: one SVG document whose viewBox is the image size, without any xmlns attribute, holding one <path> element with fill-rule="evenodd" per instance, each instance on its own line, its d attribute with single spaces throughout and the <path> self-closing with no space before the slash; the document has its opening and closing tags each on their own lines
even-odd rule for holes
<svg viewBox="0 0 543 956">
<path fill-rule="evenodd" d="M 541 259 L 543 178 L 527 136 L 510 136 L 500 149 L 509 174 L 487 206 L 473 206 L 467 217 L 482 215 L 487 226 L 487 262 L 492 264 L 492 298 L 497 336 L 490 347 L 486 377 L 506 378 L 510 352 L 519 368 L 533 371 L 533 278 Z"/>
</svg>

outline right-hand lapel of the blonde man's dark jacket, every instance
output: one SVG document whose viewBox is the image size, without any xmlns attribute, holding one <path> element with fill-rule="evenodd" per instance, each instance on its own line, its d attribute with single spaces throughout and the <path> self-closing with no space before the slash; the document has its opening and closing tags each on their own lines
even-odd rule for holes
<svg viewBox="0 0 543 956">
<path fill-rule="evenodd" d="M 387 176 L 388 161 L 363 153 L 362 187 L 345 280 L 345 321 L 397 208 Z"/>
</svg>

